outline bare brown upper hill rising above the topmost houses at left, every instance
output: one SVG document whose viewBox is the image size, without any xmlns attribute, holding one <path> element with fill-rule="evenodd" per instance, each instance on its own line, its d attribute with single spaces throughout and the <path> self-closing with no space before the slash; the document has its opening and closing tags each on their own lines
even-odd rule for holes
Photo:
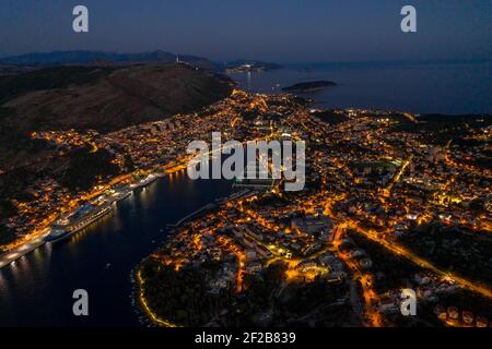
<svg viewBox="0 0 492 349">
<path fill-rule="evenodd" d="M 202 108 L 231 89 L 229 79 L 183 63 L 38 70 L 0 77 L 0 131 L 110 132 Z"/>
</svg>

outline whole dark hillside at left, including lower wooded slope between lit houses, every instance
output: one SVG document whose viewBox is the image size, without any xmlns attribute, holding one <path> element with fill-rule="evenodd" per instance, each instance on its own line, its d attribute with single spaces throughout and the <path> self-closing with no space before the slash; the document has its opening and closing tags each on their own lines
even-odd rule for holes
<svg viewBox="0 0 492 349">
<path fill-rule="evenodd" d="M 32 200 L 26 189 L 42 177 L 77 190 L 119 173 L 105 149 L 92 154 L 83 147 L 60 156 L 56 146 L 31 139 L 32 132 L 107 133 L 199 110 L 229 96 L 233 85 L 186 63 L 58 67 L 0 76 L 0 231 L 16 212 L 14 203 Z"/>
</svg>

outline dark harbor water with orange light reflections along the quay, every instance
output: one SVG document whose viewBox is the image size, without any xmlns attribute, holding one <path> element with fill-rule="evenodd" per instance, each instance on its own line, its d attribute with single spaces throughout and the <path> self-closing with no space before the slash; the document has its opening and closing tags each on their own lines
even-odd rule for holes
<svg viewBox="0 0 492 349">
<path fill-rule="evenodd" d="M 167 224 L 227 197 L 231 185 L 192 181 L 186 173 L 165 176 L 134 188 L 112 204 L 110 214 L 70 239 L 39 241 L 31 253 L 22 252 L 24 257 L 0 269 L 0 325 L 140 325 L 129 298 L 131 269 L 166 241 Z M 73 316 L 71 311 L 73 290 L 80 288 L 90 294 L 91 316 Z"/>
</svg>

